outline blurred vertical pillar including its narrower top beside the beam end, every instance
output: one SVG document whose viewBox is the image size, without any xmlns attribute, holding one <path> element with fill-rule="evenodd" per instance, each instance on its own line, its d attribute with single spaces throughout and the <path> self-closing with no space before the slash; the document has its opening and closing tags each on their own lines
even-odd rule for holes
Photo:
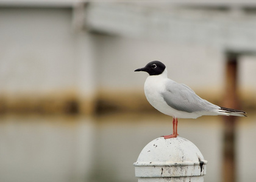
<svg viewBox="0 0 256 182">
<path fill-rule="evenodd" d="M 86 15 L 88 3 L 77 2 L 73 8 L 74 54 L 76 59 L 77 95 L 80 113 L 93 114 L 96 101 L 96 59 L 94 38 L 87 31 Z"/>
</svg>

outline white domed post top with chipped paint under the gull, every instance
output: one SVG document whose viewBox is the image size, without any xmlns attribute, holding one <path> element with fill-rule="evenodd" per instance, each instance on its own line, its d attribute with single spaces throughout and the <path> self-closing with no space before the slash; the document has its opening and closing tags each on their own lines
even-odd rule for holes
<svg viewBox="0 0 256 182">
<path fill-rule="evenodd" d="M 204 181 L 207 161 L 191 141 L 157 138 L 141 151 L 135 166 L 138 182 Z"/>
</svg>

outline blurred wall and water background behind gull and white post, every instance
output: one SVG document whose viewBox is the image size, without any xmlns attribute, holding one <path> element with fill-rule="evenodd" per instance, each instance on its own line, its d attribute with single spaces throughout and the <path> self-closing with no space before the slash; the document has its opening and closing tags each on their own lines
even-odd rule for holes
<svg viewBox="0 0 256 182">
<path fill-rule="evenodd" d="M 205 181 L 254 181 L 255 53 L 254 1 L 0 0 L 0 181 L 137 181 L 140 151 L 172 132 L 133 72 L 154 60 L 246 110 L 231 152 L 222 116 L 179 120 L 179 135 L 208 161 Z"/>
</svg>

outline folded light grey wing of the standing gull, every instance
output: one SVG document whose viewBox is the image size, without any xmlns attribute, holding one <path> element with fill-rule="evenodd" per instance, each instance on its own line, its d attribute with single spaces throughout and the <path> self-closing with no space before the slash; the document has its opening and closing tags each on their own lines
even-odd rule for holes
<svg viewBox="0 0 256 182">
<path fill-rule="evenodd" d="M 169 81 L 166 83 L 166 91 L 162 93 L 163 99 L 172 108 L 184 112 L 214 111 L 219 106 L 202 99 L 190 87 Z"/>
</svg>

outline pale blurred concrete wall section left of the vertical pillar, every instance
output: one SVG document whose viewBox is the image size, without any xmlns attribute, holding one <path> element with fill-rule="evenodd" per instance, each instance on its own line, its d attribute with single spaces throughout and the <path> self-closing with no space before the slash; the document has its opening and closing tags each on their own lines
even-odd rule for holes
<svg viewBox="0 0 256 182">
<path fill-rule="evenodd" d="M 1 8 L 1 92 L 74 89 L 71 9 Z"/>
</svg>

